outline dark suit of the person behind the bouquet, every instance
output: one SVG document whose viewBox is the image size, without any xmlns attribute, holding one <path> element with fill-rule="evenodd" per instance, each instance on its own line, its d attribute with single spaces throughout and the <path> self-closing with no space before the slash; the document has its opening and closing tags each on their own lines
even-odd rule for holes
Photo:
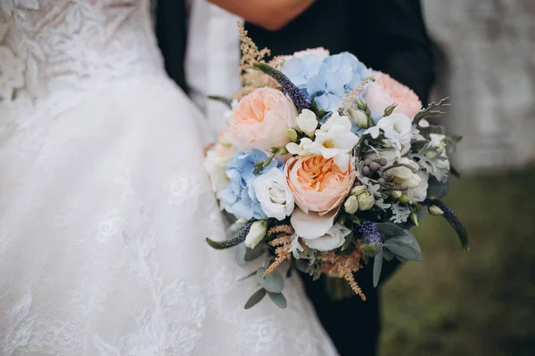
<svg viewBox="0 0 535 356">
<path fill-rule="evenodd" d="M 169 33 L 183 33 L 176 14 L 169 14 L 169 6 L 176 7 L 177 3 L 182 1 L 161 0 L 158 20 L 164 23 L 158 26 L 158 36 L 169 76 L 185 88 L 185 43 L 174 35 L 169 37 Z M 368 67 L 388 73 L 411 87 L 424 103 L 428 100 L 434 78 L 432 44 L 419 0 L 318 0 L 280 31 L 270 32 L 251 24 L 246 28 L 256 44 L 260 48 L 268 47 L 273 55 L 319 46 L 333 54 L 353 53 Z M 303 276 L 318 317 L 342 356 L 376 354 L 379 289 L 372 285 L 370 267 L 357 274 L 366 302 L 358 297 L 333 302 L 325 294 L 322 283 L 313 283 Z M 387 263 L 383 277 L 387 278 L 396 267 L 397 263 Z"/>
</svg>

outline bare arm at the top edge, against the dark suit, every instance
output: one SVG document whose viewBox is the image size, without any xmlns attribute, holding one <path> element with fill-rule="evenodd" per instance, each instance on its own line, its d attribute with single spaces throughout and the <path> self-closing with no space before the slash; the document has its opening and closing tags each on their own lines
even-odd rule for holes
<svg viewBox="0 0 535 356">
<path fill-rule="evenodd" d="M 261 28 L 284 28 L 316 0 L 208 0 Z"/>
</svg>

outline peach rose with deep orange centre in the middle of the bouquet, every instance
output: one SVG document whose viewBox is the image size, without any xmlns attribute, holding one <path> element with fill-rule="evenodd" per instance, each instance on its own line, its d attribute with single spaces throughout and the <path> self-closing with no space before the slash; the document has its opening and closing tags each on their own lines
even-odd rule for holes
<svg viewBox="0 0 535 356">
<path fill-rule="evenodd" d="M 305 214 L 333 212 L 342 205 L 355 182 L 351 169 L 342 172 L 333 158 L 322 156 L 290 158 L 284 166 L 284 174 L 295 195 L 295 203 Z"/>
</svg>

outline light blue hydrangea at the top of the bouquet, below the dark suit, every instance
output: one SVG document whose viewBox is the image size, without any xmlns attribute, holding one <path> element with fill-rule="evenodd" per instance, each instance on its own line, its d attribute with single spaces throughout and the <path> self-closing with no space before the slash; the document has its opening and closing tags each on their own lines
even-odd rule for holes
<svg viewBox="0 0 535 356">
<path fill-rule="evenodd" d="M 339 109 L 342 97 L 372 74 L 351 53 L 334 54 L 323 60 L 314 54 L 292 58 L 284 62 L 282 71 L 309 101 L 315 101 L 317 108 L 325 111 Z"/>
</svg>

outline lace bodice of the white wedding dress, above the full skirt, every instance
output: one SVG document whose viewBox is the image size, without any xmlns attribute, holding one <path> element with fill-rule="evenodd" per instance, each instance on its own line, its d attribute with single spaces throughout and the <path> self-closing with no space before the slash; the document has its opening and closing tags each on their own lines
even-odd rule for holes
<svg viewBox="0 0 535 356">
<path fill-rule="evenodd" d="M 0 1 L 0 102 L 161 72 L 148 0 Z"/>
</svg>

